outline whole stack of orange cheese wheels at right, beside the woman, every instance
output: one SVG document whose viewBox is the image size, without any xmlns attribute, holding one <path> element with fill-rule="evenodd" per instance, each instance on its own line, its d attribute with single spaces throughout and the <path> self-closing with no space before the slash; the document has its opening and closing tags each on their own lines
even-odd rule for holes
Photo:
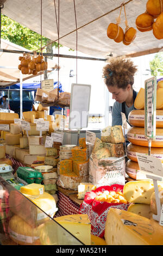
<svg viewBox="0 0 163 256">
<path fill-rule="evenodd" d="M 140 168 L 137 163 L 136 152 L 148 155 L 148 141 L 145 138 L 144 127 L 144 105 L 145 90 L 141 88 L 134 103 L 136 109 L 131 111 L 128 116 L 129 123 L 130 125 L 133 125 L 133 127 L 131 127 L 127 133 L 127 139 L 130 142 L 127 146 L 127 156 L 130 160 L 126 164 L 126 173 L 133 179 L 140 179 Z M 156 138 L 155 141 L 152 141 L 151 156 L 157 157 L 163 162 L 163 88 L 157 90 Z"/>
</svg>

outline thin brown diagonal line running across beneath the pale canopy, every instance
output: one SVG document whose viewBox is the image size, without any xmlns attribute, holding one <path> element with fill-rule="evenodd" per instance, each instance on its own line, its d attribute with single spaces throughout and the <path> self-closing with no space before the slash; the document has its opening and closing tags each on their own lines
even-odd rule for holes
<svg viewBox="0 0 163 256">
<path fill-rule="evenodd" d="M 126 3 L 123 3 L 123 5 L 126 5 L 126 4 L 128 4 L 128 3 L 132 2 L 132 1 L 134 1 L 134 0 L 129 0 L 129 1 L 128 1 L 128 2 L 126 2 Z M 101 16 L 99 16 L 99 17 L 97 17 L 96 19 L 94 19 L 94 20 L 92 20 L 92 21 L 90 21 L 90 22 L 87 22 L 85 25 L 80 26 L 79 28 L 74 29 L 73 31 L 71 31 L 71 32 L 69 32 L 69 33 L 67 33 L 67 34 L 65 34 L 65 35 L 63 35 L 63 36 L 61 36 L 60 38 L 58 38 L 58 39 L 56 39 L 56 40 L 54 40 L 54 41 L 50 42 L 49 44 L 47 44 L 47 45 L 43 46 L 43 47 L 42 47 L 42 49 L 43 49 L 43 48 L 45 48 L 45 47 L 47 47 L 48 45 L 53 44 L 53 43 L 54 43 L 54 42 L 56 42 L 57 40 L 62 39 L 62 38 L 64 38 L 65 36 L 70 35 L 70 34 L 72 34 L 73 32 L 78 31 L 79 29 L 84 28 L 84 27 L 85 27 L 85 26 L 87 26 L 87 25 L 90 25 L 92 22 L 94 22 L 94 21 L 97 21 L 97 20 L 101 19 L 102 17 L 104 17 L 104 16 L 106 16 L 106 15 L 108 15 L 108 14 L 112 13 L 113 11 L 116 11 L 117 9 L 120 9 L 120 8 L 121 8 L 121 6 L 122 6 L 122 4 L 121 4 L 120 6 L 118 6 L 118 7 L 114 8 L 114 9 L 112 9 L 111 11 L 108 11 L 108 13 L 105 13 L 105 14 L 103 14 L 103 15 L 101 15 Z M 37 52 L 37 51 L 39 51 L 39 50 L 40 50 L 40 49 L 35 50 L 35 51 L 33 51 L 33 52 L 30 52 L 29 54 L 34 53 L 34 52 Z"/>
</svg>

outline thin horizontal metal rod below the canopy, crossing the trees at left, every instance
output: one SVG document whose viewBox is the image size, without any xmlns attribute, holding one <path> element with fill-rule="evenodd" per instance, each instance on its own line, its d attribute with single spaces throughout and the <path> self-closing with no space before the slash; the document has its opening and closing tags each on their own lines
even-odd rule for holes
<svg viewBox="0 0 163 256">
<path fill-rule="evenodd" d="M 7 50 L 7 49 L 0 49 L 0 52 L 7 52 L 7 53 L 29 53 L 28 51 L 19 51 L 19 50 Z M 30 53 L 34 54 L 34 53 Z M 37 55 L 39 55 L 39 52 L 37 52 Z M 55 54 L 55 53 L 42 53 L 43 56 L 53 56 L 53 57 L 60 57 L 60 58 L 70 58 L 70 59 L 87 59 L 87 60 L 99 60 L 102 62 L 105 62 L 106 59 L 101 59 L 101 58 L 91 58 L 91 57 L 82 57 L 82 56 L 73 56 L 73 55 L 65 55 L 65 54 Z"/>
</svg>

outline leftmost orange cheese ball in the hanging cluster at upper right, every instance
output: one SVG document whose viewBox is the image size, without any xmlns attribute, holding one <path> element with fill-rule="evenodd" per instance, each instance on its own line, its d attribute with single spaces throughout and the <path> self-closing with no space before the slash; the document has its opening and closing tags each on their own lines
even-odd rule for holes
<svg viewBox="0 0 163 256">
<path fill-rule="evenodd" d="M 136 27 L 141 32 L 151 31 L 152 24 L 154 22 L 153 17 L 150 14 L 143 13 L 136 18 Z"/>
</svg>

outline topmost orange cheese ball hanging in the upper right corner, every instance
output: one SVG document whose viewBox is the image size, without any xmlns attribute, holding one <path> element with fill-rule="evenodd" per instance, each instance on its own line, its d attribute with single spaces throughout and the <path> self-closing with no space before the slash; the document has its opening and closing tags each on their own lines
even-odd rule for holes
<svg viewBox="0 0 163 256">
<path fill-rule="evenodd" d="M 158 17 L 163 11 L 163 0 L 148 0 L 146 4 L 147 13 L 151 14 L 154 18 Z"/>
</svg>

